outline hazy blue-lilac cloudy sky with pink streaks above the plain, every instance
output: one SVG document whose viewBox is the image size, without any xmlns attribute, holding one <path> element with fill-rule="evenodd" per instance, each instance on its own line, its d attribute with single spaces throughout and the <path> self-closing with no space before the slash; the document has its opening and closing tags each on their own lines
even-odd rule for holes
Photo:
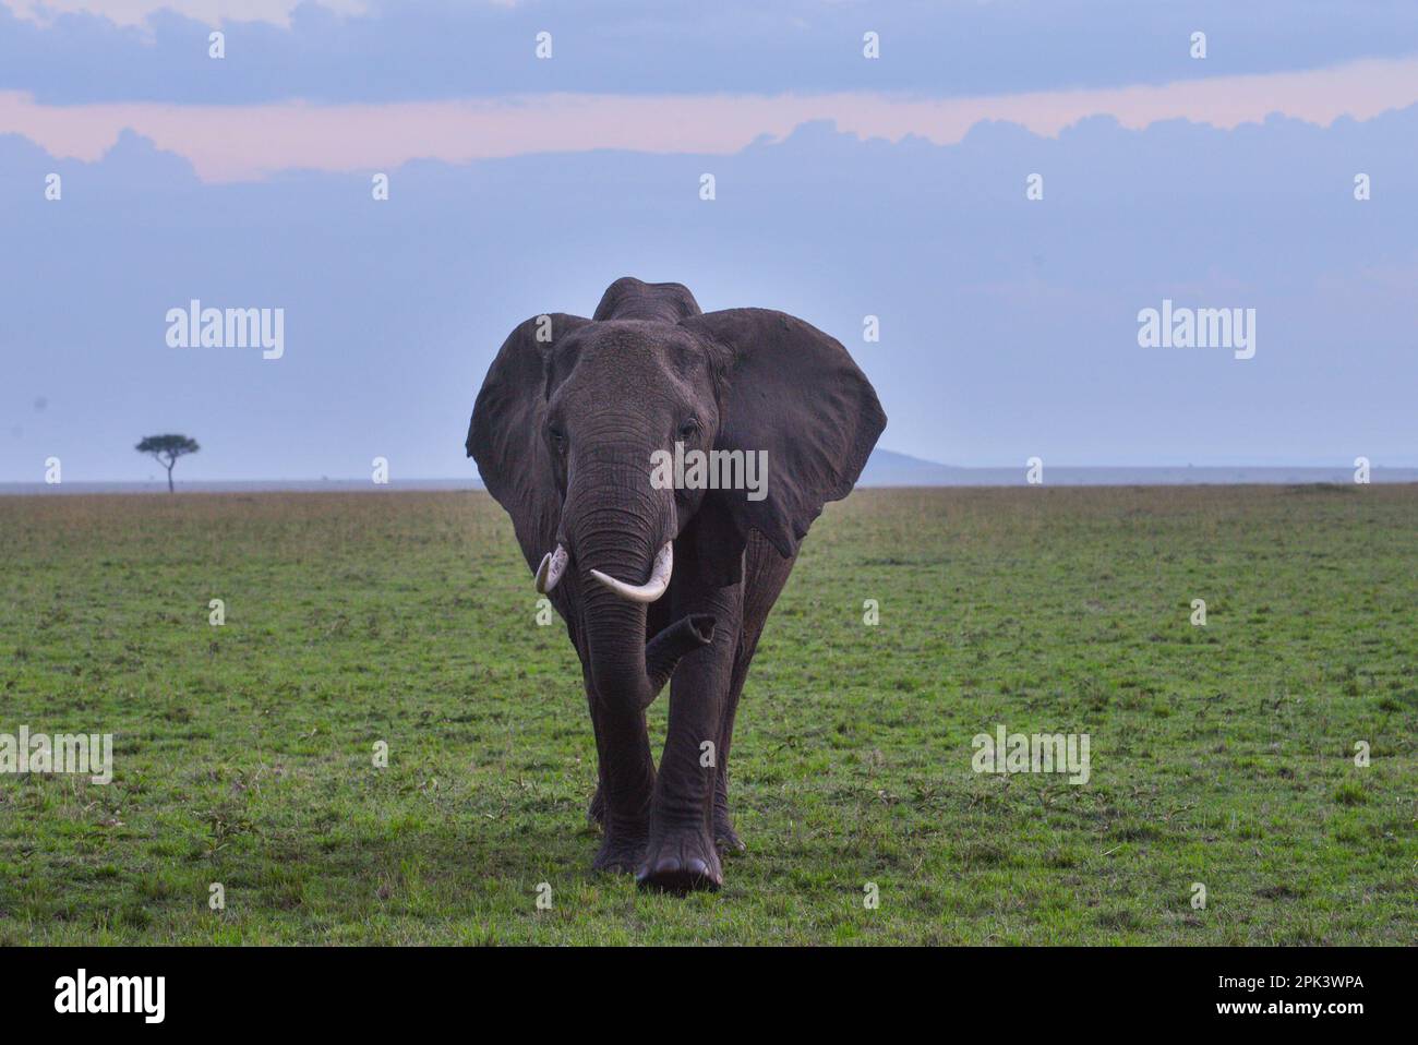
<svg viewBox="0 0 1418 1045">
<path fill-rule="evenodd" d="M 471 478 L 621 275 L 832 333 L 933 461 L 1414 466 L 1415 156 L 1411 3 L 0 0 L 0 482 Z"/>
</svg>

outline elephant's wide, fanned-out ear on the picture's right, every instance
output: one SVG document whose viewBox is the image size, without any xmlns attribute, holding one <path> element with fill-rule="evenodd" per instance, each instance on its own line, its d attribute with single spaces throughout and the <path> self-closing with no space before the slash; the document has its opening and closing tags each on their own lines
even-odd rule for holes
<svg viewBox="0 0 1418 1045">
<path fill-rule="evenodd" d="M 681 326 L 709 342 L 725 379 L 716 449 L 767 455 L 761 499 L 719 496 L 740 532 L 791 557 L 822 505 L 852 492 L 886 427 L 876 391 L 837 339 L 783 312 L 726 309 Z"/>
</svg>

